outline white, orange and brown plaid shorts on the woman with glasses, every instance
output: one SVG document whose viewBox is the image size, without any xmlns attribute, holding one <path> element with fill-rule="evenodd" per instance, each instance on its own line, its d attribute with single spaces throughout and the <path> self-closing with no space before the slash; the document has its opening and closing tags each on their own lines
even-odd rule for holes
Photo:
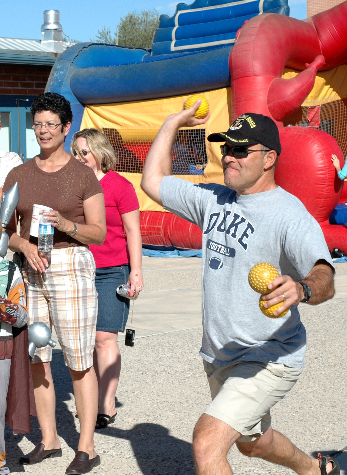
<svg viewBox="0 0 347 475">
<path fill-rule="evenodd" d="M 84 371 L 93 365 L 98 294 L 95 262 L 88 247 L 53 249 L 46 272 L 34 271 L 25 261 L 28 324 L 52 324 L 66 366 Z M 33 363 L 52 360 L 52 348 L 37 348 Z"/>
</svg>

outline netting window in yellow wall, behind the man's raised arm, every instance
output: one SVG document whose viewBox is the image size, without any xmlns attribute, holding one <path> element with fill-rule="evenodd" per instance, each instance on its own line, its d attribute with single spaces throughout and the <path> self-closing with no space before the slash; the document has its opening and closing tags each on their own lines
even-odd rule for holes
<svg viewBox="0 0 347 475">
<path fill-rule="evenodd" d="M 141 173 L 158 129 L 103 128 L 118 157 L 116 171 Z M 174 142 L 173 175 L 203 174 L 208 161 L 205 129 L 181 129 Z"/>
</svg>

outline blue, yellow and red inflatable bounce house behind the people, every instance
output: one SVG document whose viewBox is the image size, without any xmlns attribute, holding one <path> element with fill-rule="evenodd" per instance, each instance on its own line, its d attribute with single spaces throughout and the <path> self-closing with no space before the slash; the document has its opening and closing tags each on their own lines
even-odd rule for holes
<svg viewBox="0 0 347 475">
<path fill-rule="evenodd" d="M 72 104 L 67 150 L 79 129 L 105 133 L 116 170 L 137 191 L 144 245 L 201 248 L 200 229 L 164 211 L 140 181 L 165 118 L 203 93 L 210 119 L 179 131 L 173 173 L 223 183 L 219 144 L 206 137 L 242 113 L 266 114 L 281 135 L 277 184 L 301 199 L 329 249 L 347 253 L 347 212 L 335 209 L 347 201 L 347 184 L 331 162 L 335 153 L 342 168 L 347 155 L 347 1 L 303 21 L 288 15 L 287 0 L 179 3 L 173 17 L 160 17 L 150 50 L 79 43 L 56 61 L 46 91 Z"/>
</svg>

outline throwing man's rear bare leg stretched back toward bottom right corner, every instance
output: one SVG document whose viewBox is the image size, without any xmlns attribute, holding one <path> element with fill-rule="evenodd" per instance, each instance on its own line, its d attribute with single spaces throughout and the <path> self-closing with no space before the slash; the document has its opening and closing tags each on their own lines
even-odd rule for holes
<svg viewBox="0 0 347 475">
<path fill-rule="evenodd" d="M 299 475 L 320 475 L 319 461 L 302 452 L 292 442 L 271 427 L 264 431 L 262 437 L 253 442 L 237 442 L 238 450 L 249 457 L 259 457 L 291 468 Z M 327 465 L 327 473 L 332 464 Z"/>
</svg>

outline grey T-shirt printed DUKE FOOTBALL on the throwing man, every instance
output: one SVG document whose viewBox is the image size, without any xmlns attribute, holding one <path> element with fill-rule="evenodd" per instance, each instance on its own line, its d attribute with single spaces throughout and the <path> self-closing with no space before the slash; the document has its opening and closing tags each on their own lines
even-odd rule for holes
<svg viewBox="0 0 347 475">
<path fill-rule="evenodd" d="M 301 368 L 306 331 L 297 306 L 268 318 L 248 284 L 259 262 L 294 280 L 319 259 L 332 266 L 320 226 L 301 201 L 280 187 L 238 196 L 223 185 L 172 176 L 162 180 L 160 197 L 165 209 L 202 230 L 202 358 L 219 366 L 263 361 Z"/>
</svg>

